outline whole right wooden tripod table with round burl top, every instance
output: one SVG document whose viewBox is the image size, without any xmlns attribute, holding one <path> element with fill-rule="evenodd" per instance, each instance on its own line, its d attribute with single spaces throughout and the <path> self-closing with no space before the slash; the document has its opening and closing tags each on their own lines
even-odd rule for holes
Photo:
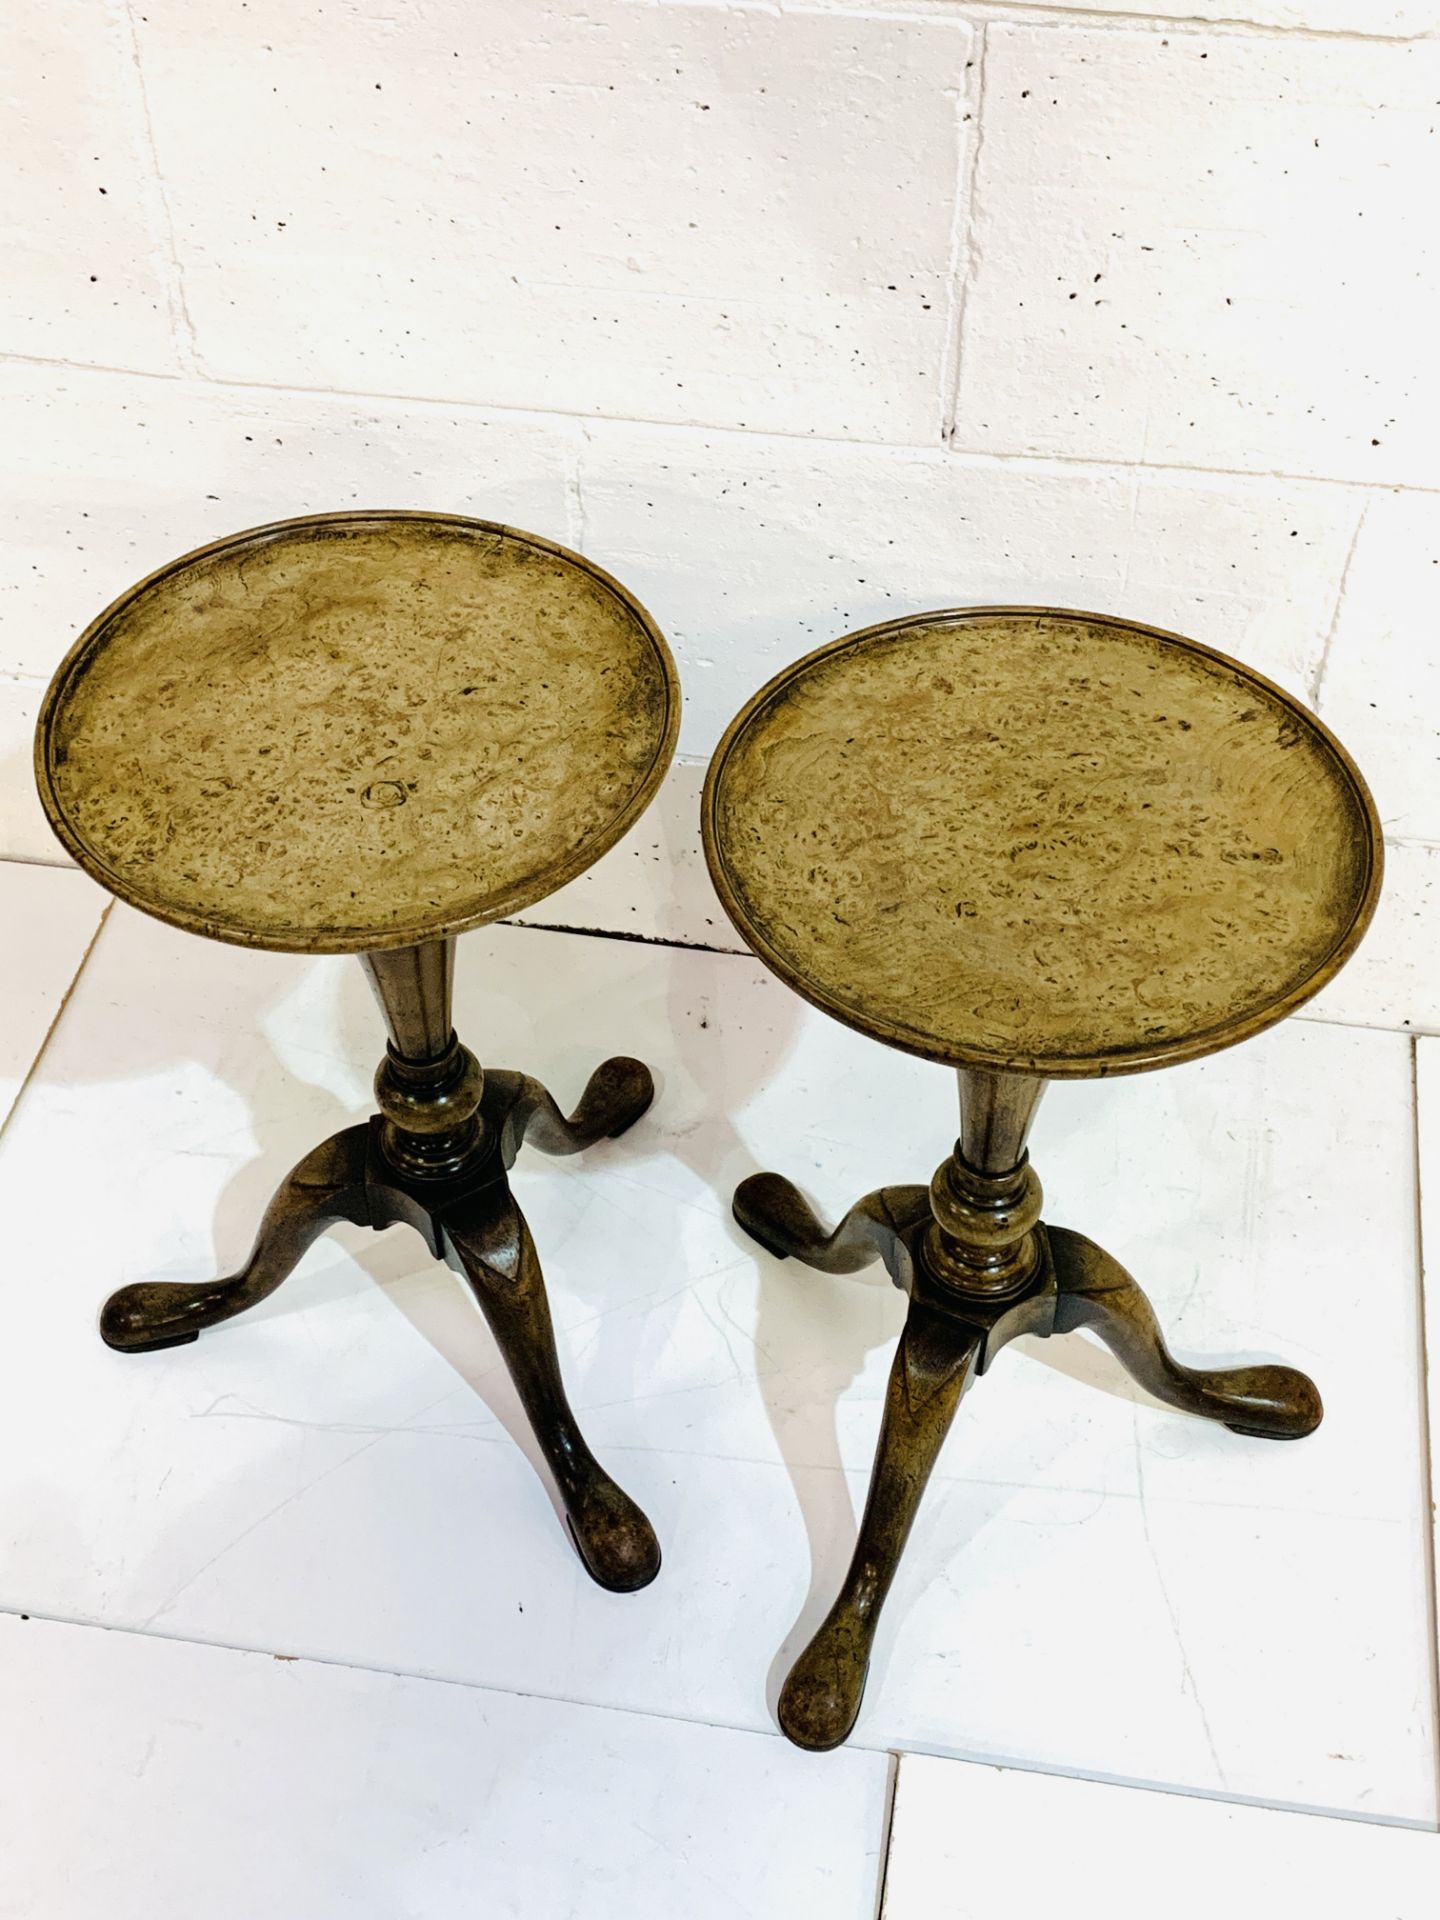
<svg viewBox="0 0 1440 1920">
<path fill-rule="evenodd" d="M 1375 804 L 1338 741 L 1236 660 L 1044 607 L 918 614 L 785 668 L 710 762 L 705 851 L 749 945 L 797 993 L 958 1069 L 929 1187 L 833 1229 L 780 1173 L 735 1219 L 826 1273 L 883 1260 L 910 1296 L 841 1594 L 780 1722 L 833 1747 L 960 1398 L 1021 1332 L 1092 1329 L 1158 1400 L 1298 1440 L 1294 1367 L 1196 1369 L 1125 1269 L 1041 1223 L 1025 1140 L 1050 1079 L 1198 1060 L 1294 1012 L 1380 887 Z"/>
</svg>

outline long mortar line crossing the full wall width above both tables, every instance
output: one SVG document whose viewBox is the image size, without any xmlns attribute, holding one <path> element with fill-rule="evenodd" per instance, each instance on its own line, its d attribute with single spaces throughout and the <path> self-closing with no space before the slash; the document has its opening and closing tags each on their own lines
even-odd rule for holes
<svg viewBox="0 0 1440 1920">
<path fill-rule="evenodd" d="M 125 378 L 125 380 L 156 380 L 167 386 L 190 388 L 196 394 L 273 394 L 290 399 L 328 399 L 342 407 L 432 407 L 445 413 L 478 413 L 495 417 L 520 417 L 530 420 L 555 420 L 564 424 L 580 424 L 584 428 L 614 428 L 614 430 L 639 430 L 645 434 L 687 434 L 695 440 L 733 440 L 737 444 L 753 445 L 808 445 L 822 447 L 829 453 L 847 449 L 854 455 L 881 453 L 881 455 L 908 455 L 918 465 L 943 467 L 947 461 L 973 463 L 977 467 L 1031 467 L 1031 468 L 1050 468 L 1050 467 L 1077 467 L 1083 472 L 1148 472 L 1148 474 L 1179 474 L 1181 478 L 1192 474 L 1204 474 L 1208 478 L 1219 480 L 1250 480 L 1263 482 L 1275 480 L 1284 486 L 1313 486 L 1313 488 L 1356 488 L 1369 493 L 1425 493 L 1440 495 L 1440 478 L 1434 482 L 1419 480 L 1361 480 L 1354 474 L 1302 474 L 1284 472 L 1275 467 L 1206 467 L 1194 461 L 1133 461 L 1121 459 L 1119 455 L 1098 455 L 1098 453 L 995 453 L 989 447 L 964 447 L 950 444 L 948 447 L 937 447 L 929 440 L 852 440 L 843 434 L 801 434 L 785 432 L 783 428 L 760 428 L 760 426 L 726 426 L 707 420 L 651 420 L 641 419 L 632 413 L 563 413 L 559 407 L 520 407 L 497 399 L 455 399 L 444 394 L 382 394 L 367 392 L 357 394 L 353 388 L 340 386 L 284 386 L 276 380 L 236 380 L 236 378 L 217 378 L 207 372 L 156 372 L 154 367 L 109 367 L 94 365 L 88 361 L 67 361 L 67 359 L 48 359 L 42 353 L 6 353 L 0 349 L 0 372 L 6 367 L 58 367 L 65 372 L 77 374 L 96 374 L 100 378 Z M 591 436 L 591 444 L 593 436 Z"/>
</svg>

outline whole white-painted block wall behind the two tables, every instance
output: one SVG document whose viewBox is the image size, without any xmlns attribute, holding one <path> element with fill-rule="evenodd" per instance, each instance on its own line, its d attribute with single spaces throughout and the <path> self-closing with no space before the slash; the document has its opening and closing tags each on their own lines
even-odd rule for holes
<svg viewBox="0 0 1440 1920">
<path fill-rule="evenodd" d="M 0 852 L 60 856 L 25 735 L 106 599 L 434 505 L 593 553 L 685 680 L 651 816 L 536 918 L 730 945 L 695 803 L 747 693 L 1056 601 L 1319 701 L 1396 841 L 1329 1004 L 1440 1025 L 1440 0 L 12 0 L 0 42 Z"/>
</svg>

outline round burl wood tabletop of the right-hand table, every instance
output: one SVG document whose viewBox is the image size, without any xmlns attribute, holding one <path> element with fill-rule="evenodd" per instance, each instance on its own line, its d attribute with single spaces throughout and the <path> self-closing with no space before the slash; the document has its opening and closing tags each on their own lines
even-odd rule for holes
<svg viewBox="0 0 1440 1920">
<path fill-rule="evenodd" d="M 705 851 L 755 952 L 847 1025 L 1056 1079 L 1192 1060 L 1359 943 L 1380 828 L 1338 741 L 1196 641 L 975 607 L 868 628 L 732 722 Z"/>
</svg>

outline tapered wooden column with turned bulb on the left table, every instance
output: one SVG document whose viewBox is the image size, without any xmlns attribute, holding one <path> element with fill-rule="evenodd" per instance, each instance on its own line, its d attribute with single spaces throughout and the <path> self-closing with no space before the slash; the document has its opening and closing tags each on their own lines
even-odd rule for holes
<svg viewBox="0 0 1440 1920">
<path fill-rule="evenodd" d="M 484 1154 L 486 1077 L 451 1027 L 455 941 L 361 954 L 390 1046 L 374 1075 L 386 1160 L 413 1179 L 453 1179 Z"/>
</svg>

